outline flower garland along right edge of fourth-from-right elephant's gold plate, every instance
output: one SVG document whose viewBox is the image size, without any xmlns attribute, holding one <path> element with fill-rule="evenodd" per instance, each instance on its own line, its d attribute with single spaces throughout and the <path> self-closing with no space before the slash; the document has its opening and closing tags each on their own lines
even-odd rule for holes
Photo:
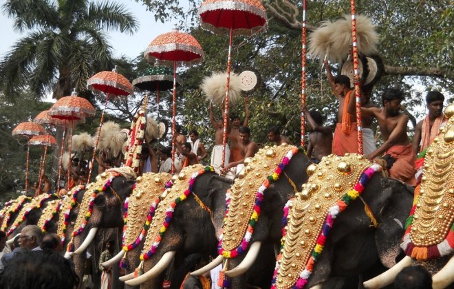
<svg viewBox="0 0 454 289">
<path fill-rule="evenodd" d="M 162 235 L 164 235 L 164 233 L 167 231 L 167 228 L 169 228 L 170 222 L 171 222 L 172 217 L 173 217 L 173 211 L 175 210 L 175 206 L 177 206 L 177 204 L 179 204 L 180 202 L 183 202 L 184 200 L 186 200 L 188 195 L 193 191 L 193 186 L 194 186 L 194 183 L 195 183 L 195 179 L 199 175 L 203 175 L 204 173 L 208 173 L 208 172 L 211 172 L 211 171 L 215 171 L 215 170 L 213 169 L 213 167 L 207 166 L 204 169 L 196 171 L 195 173 L 193 173 L 191 175 L 191 179 L 188 181 L 188 184 L 189 184 L 188 185 L 188 189 L 186 189 L 184 191 L 184 193 L 182 193 L 182 195 L 177 197 L 175 199 L 175 201 L 173 201 L 170 204 L 169 208 L 166 209 L 166 217 L 164 219 L 164 222 L 162 223 L 162 227 L 160 228 L 159 235 L 155 238 L 155 240 L 153 242 L 153 245 L 147 251 L 147 253 L 143 253 L 142 255 L 140 255 L 140 260 L 142 260 L 142 261 L 147 260 L 154 253 L 156 253 L 156 250 L 158 250 L 158 246 L 159 246 L 159 244 L 160 244 L 160 242 L 162 240 Z"/>
</svg>

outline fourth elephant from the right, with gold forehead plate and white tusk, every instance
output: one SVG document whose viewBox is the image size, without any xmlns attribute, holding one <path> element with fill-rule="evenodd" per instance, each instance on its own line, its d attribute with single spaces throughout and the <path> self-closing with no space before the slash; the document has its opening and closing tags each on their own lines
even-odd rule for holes
<svg viewBox="0 0 454 289">
<path fill-rule="evenodd" d="M 197 254 L 208 261 L 216 253 L 215 228 L 221 226 L 226 191 L 233 182 L 201 164 L 184 168 L 172 181 L 160 202 L 149 200 L 154 213 L 146 224 L 147 235 L 137 250 L 127 253 L 128 272 L 138 268 L 143 275 L 122 277 L 127 286 L 161 288 L 164 281 L 171 281 L 171 288 L 180 288 L 190 269 L 186 267 L 189 255 Z M 127 226 L 135 226 L 129 222 L 128 211 Z M 142 228 L 143 220 L 139 226 Z"/>
</svg>

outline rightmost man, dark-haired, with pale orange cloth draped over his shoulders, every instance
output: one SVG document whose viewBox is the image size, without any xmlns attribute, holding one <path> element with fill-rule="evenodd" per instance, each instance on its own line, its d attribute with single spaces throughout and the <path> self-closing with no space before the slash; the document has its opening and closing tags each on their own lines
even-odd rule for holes
<svg viewBox="0 0 454 289">
<path fill-rule="evenodd" d="M 424 151 L 430 142 L 438 135 L 438 129 L 448 121 L 443 114 L 444 96 L 440 92 L 428 92 L 426 105 L 429 114 L 418 122 L 413 137 L 413 150 L 415 153 Z"/>
</svg>

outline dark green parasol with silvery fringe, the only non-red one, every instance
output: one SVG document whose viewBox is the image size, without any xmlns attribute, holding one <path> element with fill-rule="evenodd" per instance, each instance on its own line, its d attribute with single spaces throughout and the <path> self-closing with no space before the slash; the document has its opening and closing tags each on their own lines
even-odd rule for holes
<svg viewBox="0 0 454 289">
<path fill-rule="evenodd" d="M 182 82 L 179 77 L 177 77 L 177 85 L 180 85 Z M 160 91 L 161 90 L 169 90 L 173 88 L 173 73 L 170 67 L 159 65 L 158 61 L 155 62 L 153 67 L 147 67 L 141 73 L 141 75 L 134 79 L 132 82 L 133 86 L 138 87 L 138 89 L 147 90 L 147 91 L 155 91 L 156 92 L 156 105 L 158 111 L 158 149 L 159 149 L 159 139 L 162 130 L 162 126 L 164 123 L 160 122 Z M 165 125 L 164 125 L 165 126 Z M 160 160 L 160 154 L 158 154 L 158 164 Z"/>
</svg>

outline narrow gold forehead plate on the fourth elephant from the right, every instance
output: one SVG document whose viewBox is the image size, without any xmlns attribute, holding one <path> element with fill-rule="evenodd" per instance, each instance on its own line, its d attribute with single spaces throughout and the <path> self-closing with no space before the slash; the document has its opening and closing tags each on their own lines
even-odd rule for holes
<svg viewBox="0 0 454 289">
<path fill-rule="evenodd" d="M 185 167 L 180 173 L 173 175 L 173 184 L 171 188 L 164 191 L 165 198 L 158 204 L 158 207 L 155 210 L 155 215 L 153 216 L 153 220 L 151 220 L 141 255 L 147 254 L 149 250 L 151 250 L 153 244 L 157 242 L 156 240 L 160 239 L 160 231 L 162 229 L 164 221 L 166 220 L 167 212 L 170 209 L 171 211 L 173 211 L 175 207 L 171 208 L 171 206 L 176 205 L 174 203 L 175 199 L 177 199 L 177 197 L 180 197 L 180 195 L 182 195 L 184 191 L 188 189 L 189 180 L 191 180 L 193 173 L 196 173 L 197 171 L 203 169 L 204 166 L 202 164 L 194 164 L 192 166 Z"/>
</svg>

